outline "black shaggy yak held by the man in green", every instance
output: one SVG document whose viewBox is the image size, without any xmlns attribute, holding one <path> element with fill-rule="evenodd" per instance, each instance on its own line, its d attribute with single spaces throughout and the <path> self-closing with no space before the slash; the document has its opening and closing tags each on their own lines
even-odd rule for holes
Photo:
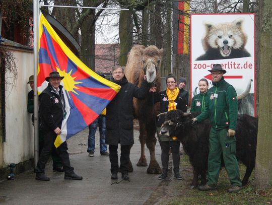
<svg viewBox="0 0 272 205">
<path fill-rule="evenodd" d="M 161 134 L 177 136 L 181 141 L 185 153 L 193 167 L 191 188 L 198 186 L 198 175 L 201 176 L 200 185 L 206 184 L 208 169 L 210 122 L 208 119 L 192 125 L 190 119 L 199 113 L 183 113 L 181 110 L 171 110 L 165 113 L 165 122 L 161 127 Z M 246 114 L 238 115 L 236 129 L 236 157 L 238 162 L 246 166 L 246 173 L 242 184 L 248 183 L 249 176 L 255 167 L 258 119 Z M 223 162 L 223 158 L 221 159 Z M 222 163 L 223 164 L 223 163 Z"/>
</svg>

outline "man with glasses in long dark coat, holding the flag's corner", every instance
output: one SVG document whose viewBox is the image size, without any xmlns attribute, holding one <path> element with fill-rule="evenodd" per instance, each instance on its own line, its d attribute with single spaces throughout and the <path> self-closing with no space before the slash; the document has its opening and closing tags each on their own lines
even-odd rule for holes
<svg viewBox="0 0 272 205">
<path fill-rule="evenodd" d="M 113 82 L 121 89 L 107 106 L 106 113 L 106 144 L 109 145 L 109 158 L 111 163 L 111 179 L 117 179 L 118 173 L 118 144 L 121 145 L 120 172 L 123 179 L 129 179 L 127 174 L 129 166 L 129 152 L 133 141 L 133 97 L 143 99 L 149 93 L 147 81 L 141 88 L 128 83 L 124 70 L 117 65 L 112 69 Z"/>
</svg>

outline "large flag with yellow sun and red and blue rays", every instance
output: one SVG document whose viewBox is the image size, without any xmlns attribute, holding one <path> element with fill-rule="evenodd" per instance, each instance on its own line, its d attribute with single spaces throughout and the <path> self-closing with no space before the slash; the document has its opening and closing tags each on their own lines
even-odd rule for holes
<svg viewBox="0 0 272 205">
<path fill-rule="evenodd" d="M 40 94 L 53 71 L 64 76 L 66 115 L 55 147 L 92 123 L 119 91 L 119 86 L 93 72 L 59 38 L 41 14 L 39 25 L 39 65 L 37 87 Z"/>
</svg>

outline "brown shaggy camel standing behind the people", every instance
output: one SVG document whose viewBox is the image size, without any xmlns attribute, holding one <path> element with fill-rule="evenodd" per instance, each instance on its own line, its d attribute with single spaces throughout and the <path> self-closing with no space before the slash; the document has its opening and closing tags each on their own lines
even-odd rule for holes
<svg viewBox="0 0 272 205">
<path fill-rule="evenodd" d="M 161 91 L 161 78 L 158 74 L 161 67 L 163 49 L 158 49 L 151 45 L 145 47 L 143 45 L 134 45 L 128 53 L 127 63 L 125 67 L 125 76 L 128 82 L 141 87 L 144 76 L 147 75 L 147 81 L 150 87 L 156 86 L 157 92 Z M 152 94 L 150 94 L 152 95 Z M 143 100 L 133 99 L 133 108 L 135 117 L 139 120 L 141 157 L 137 166 L 147 166 L 145 156 L 145 144 L 150 151 L 150 164 L 147 173 L 160 174 L 162 172 L 160 165 L 155 158 L 156 145 L 156 126 L 154 116 L 159 113 L 159 103 L 153 105 L 151 98 Z M 132 171 L 133 168 L 131 166 Z"/>
</svg>

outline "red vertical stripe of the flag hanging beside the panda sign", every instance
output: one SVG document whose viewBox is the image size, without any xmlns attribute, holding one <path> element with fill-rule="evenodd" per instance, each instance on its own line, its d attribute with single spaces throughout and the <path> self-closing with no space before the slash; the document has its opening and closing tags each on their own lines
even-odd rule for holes
<svg viewBox="0 0 272 205">
<path fill-rule="evenodd" d="M 185 2 L 178 2 L 178 10 L 184 12 Z M 177 45 L 177 53 L 183 54 L 184 49 L 184 15 L 178 16 L 178 45 Z"/>
</svg>

